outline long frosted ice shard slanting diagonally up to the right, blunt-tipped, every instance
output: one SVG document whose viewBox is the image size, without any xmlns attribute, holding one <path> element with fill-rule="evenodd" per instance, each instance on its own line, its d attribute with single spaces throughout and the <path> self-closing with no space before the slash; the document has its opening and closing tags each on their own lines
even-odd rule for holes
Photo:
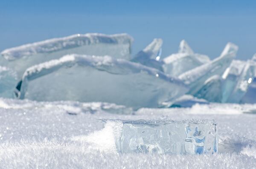
<svg viewBox="0 0 256 169">
<path fill-rule="evenodd" d="M 188 94 L 196 95 L 203 88 L 209 77 L 213 75 L 221 76 L 230 66 L 233 58 L 236 57 L 237 50 L 238 46 L 233 43 L 227 43 L 221 55 L 216 59 L 180 74 L 179 78 L 190 87 Z"/>
</svg>

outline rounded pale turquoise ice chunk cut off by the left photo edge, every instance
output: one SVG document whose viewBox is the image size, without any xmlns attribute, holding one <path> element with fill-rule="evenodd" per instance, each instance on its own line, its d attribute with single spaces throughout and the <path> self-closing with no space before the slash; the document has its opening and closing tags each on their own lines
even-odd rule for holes
<svg viewBox="0 0 256 169">
<path fill-rule="evenodd" d="M 0 97 L 13 98 L 17 75 L 11 69 L 0 66 Z"/>
</svg>

